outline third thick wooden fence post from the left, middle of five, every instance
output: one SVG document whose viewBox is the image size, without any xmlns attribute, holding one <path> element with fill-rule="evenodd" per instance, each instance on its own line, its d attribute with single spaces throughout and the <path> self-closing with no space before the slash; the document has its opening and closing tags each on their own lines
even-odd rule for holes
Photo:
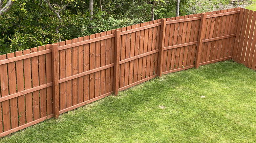
<svg viewBox="0 0 256 143">
<path fill-rule="evenodd" d="M 157 75 L 160 77 L 162 76 L 162 66 L 163 66 L 163 46 L 164 46 L 164 37 L 165 37 L 165 27 L 166 27 L 166 19 L 161 19 L 158 66 L 157 66 L 158 68 Z"/>
</svg>

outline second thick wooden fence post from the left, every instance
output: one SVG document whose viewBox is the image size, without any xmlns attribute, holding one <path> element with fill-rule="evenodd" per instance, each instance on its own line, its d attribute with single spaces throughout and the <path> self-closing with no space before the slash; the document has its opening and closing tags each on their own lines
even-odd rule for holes
<svg viewBox="0 0 256 143">
<path fill-rule="evenodd" d="M 120 30 L 115 30 L 115 50 L 114 50 L 114 80 L 113 80 L 113 92 L 115 95 L 118 94 L 119 87 L 119 60 L 120 60 L 120 43 L 121 43 L 121 35 Z"/>
</svg>

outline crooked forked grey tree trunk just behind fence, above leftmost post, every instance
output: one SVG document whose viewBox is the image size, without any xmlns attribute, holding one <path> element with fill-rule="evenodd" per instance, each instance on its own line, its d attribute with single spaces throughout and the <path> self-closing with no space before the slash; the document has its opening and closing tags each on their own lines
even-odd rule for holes
<svg viewBox="0 0 256 143">
<path fill-rule="evenodd" d="M 65 9 L 65 8 L 71 3 L 71 1 L 70 1 L 69 3 L 67 3 L 66 5 L 64 5 L 63 7 L 60 7 L 58 4 L 53 4 L 53 6 L 54 6 L 57 10 L 52 7 L 52 5 L 51 5 L 51 3 L 50 3 L 50 0 L 44 0 L 44 1 L 48 4 L 49 8 L 53 11 L 53 13 L 54 13 L 54 14 L 57 16 L 57 18 L 59 19 L 60 25 L 58 25 L 58 26 L 56 27 L 56 29 L 55 29 L 56 33 L 59 34 L 59 29 L 60 29 L 60 27 L 62 26 L 62 19 L 61 19 L 61 17 L 60 17 L 60 12 L 61 12 L 63 9 Z M 59 41 L 61 41 L 60 37 L 59 37 Z"/>
</svg>

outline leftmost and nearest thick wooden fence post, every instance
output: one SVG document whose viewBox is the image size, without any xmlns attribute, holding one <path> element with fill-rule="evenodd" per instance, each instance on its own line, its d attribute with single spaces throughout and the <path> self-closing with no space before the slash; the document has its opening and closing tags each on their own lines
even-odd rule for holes
<svg viewBox="0 0 256 143">
<path fill-rule="evenodd" d="M 52 44 L 52 79 L 53 79 L 53 116 L 59 117 L 59 54 L 56 44 Z"/>
</svg>

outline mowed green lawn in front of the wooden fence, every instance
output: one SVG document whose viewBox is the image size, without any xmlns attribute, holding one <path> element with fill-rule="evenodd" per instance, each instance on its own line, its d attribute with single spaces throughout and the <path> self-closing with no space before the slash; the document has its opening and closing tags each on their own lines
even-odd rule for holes
<svg viewBox="0 0 256 143">
<path fill-rule="evenodd" d="M 0 142 L 256 142 L 256 72 L 224 61 L 163 75 Z"/>
</svg>

